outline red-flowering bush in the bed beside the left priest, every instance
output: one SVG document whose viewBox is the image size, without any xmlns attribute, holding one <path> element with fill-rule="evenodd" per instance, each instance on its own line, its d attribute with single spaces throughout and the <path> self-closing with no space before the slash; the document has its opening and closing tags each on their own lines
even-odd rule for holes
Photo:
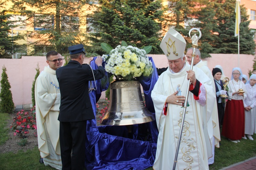
<svg viewBox="0 0 256 170">
<path fill-rule="evenodd" d="M 14 136 L 25 138 L 29 133 L 29 129 L 37 129 L 37 122 L 35 117 L 35 108 L 33 107 L 30 112 L 24 112 L 21 110 L 13 118 L 11 129 L 14 131 Z"/>
</svg>

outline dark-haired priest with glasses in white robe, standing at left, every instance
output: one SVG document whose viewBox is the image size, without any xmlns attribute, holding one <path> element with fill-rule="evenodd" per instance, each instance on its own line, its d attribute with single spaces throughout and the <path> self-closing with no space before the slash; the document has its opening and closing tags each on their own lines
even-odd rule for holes
<svg viewBox="0 0 256 170">
<path fill-rule="evenodd" d="M 56 77 L 62 59 L 56 51 L 46 54 L 48 67 L 35 81 L 35 112 L 37 117 L 38 148 L 45 166 L 62 169 L 59 145 L 60 90 Z"/>
</svg>

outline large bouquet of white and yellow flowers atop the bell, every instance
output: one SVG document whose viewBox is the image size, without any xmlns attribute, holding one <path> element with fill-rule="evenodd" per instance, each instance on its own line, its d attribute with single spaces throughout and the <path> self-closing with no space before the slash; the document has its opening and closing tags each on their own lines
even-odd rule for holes
<svg viewBox="0 0 256 170">
<path fill-rule="evenodd" d="M 122 77 L 148 77 L 152 72 L 152 62 L 146 51 L 133 46 L 117 46 L 109 55 L 103 55 L 105 70 Z"/>
</svg>

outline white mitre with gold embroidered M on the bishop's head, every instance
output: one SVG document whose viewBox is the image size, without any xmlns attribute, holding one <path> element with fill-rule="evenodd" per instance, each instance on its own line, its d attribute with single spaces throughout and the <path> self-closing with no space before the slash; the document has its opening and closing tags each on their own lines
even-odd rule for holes
<svg viewBox="0 0 256 170">
<path fill-rule="evenodd" d="M 179 32 L 170 28 L 163 37 L 160 47 L 168 60 L 177 60 L 184 56 L 186 41 Z"/>
</svg>

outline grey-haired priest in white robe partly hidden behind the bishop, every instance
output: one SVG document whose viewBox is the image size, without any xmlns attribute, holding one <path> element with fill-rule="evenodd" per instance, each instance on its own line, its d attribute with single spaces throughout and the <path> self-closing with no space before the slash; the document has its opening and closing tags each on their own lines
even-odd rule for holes
<svg viewBox="0 0 256 170">
<path fill-rule="evenodd" d="M 193 53 L 193 48 L 187 49 L 186 57 L 187 57 L 187 62 L 190 65 L 191 65 L 192 53 Z M 194 67 L 200 68 L 211 79 L 211 82 L 212 82 L 211 86 L 213 87 L 213 90 L 216 93 L 214 79 L 212 76 L 212 72 L 207 66 L 207 61 L 201 60 L 201 53 L 199 49 L 195 50 L 195 54 L 196 56 L 194 58 Z M 213 104 L 214 104 L 214 107 L 212 110 L 209 110 L 207 107 L 205 107 L 205 112 L 211 113 L 211 117 L 207 122 L 207 130 L 208 130 L 208 135 L 211 139 L 212 155 L 213 155 L 211 158 L 208 159 L 209 165 L 214 163 L 214 149 L 215 149 L 214 147 L 219 148 L 219 141 L 221 141 L 221 134 L 219 131 L 217 101 L 215 101 Z"/>
</svg>

